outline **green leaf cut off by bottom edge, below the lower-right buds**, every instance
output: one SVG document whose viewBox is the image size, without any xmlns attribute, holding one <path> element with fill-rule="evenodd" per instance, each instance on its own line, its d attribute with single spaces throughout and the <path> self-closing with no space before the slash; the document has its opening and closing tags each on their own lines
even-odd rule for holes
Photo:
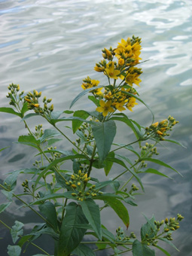
<svg viewBox="0 0 192 256">
<path fill-rule="evenodd" d="M 151 250 L 147 245 L 142 244 L 139 240 L 133 242 L 133 256 L 155 256 L 154 250 Z"/>
</svg>

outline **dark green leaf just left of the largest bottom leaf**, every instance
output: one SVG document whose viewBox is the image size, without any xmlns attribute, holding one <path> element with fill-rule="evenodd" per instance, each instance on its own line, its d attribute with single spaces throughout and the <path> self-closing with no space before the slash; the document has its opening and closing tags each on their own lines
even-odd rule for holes
<svg viewBox="0 0 192 256">
<path fill-rule="evenodd" d="M 40 212 L 46 217 L 47 225 L 53 227 L 53 229 L 57 230 L 57 216 L 56 209 L 53 203 L 45 202 L 38 206 Z M 50 225 L 51 224 L 51 225 Z"/>
</svg>

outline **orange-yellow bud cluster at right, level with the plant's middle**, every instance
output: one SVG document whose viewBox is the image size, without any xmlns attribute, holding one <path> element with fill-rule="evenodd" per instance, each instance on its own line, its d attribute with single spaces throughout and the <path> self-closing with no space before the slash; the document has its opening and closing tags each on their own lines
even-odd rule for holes
<svg viewBox="0 0 192 256">
<path fill-rule="evenodd" d="M 160 123 L 156 122 L 146 127 L 146 134 L 149 137 L 164 140 L 163 137 L 170 135 L 167 132 L 172 130 L 172 126 L 175 126 L 176 123 L 178 123 L 178 121 L 176 121 L 174 117 L 169 116 L 168 119 L 162 120 Z"/>
</svg>

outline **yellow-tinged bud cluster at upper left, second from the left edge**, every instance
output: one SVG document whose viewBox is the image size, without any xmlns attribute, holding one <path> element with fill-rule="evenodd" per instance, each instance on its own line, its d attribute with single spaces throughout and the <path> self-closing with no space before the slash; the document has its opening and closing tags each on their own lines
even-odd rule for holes
<svg viewBox="0 0 192 256">
<path fill-rule="evenodd" d="M 48 106 L 52 99 L 47 99 L 46 96 L 44 96 L 43 103 L 44 107 L 41 108 L 41 105 L 39 103 L 39 98 L 41 97 L 41 92 L 38 93 L 37 90 L 33 90 L 33 93 L 29 92 L 25 96 L 25 101 L 28 103 L 28 108 L 30 110 L 35 111 L 35 113 L 44 115 L 44 114 L 50 114 L 50 112 L 53 111 L 53 104 Z"/>
</svg>

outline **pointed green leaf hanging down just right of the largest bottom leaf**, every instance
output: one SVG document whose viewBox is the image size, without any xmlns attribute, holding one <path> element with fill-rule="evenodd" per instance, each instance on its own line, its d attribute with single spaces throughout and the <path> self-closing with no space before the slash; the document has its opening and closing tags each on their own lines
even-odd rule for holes
<svg viewBox="0 0 192 256">
<path fill-rule="evenodd" d="M 82 202 L 79 202 L 82 206 L 83 212 L 90 225 L 93 227 L 93 230 L 96 232 L 98 238 L 102 239 L 102 227 L 100 219 L 99 206 L 91 198 L 87 198 Z"/>
</svg>

